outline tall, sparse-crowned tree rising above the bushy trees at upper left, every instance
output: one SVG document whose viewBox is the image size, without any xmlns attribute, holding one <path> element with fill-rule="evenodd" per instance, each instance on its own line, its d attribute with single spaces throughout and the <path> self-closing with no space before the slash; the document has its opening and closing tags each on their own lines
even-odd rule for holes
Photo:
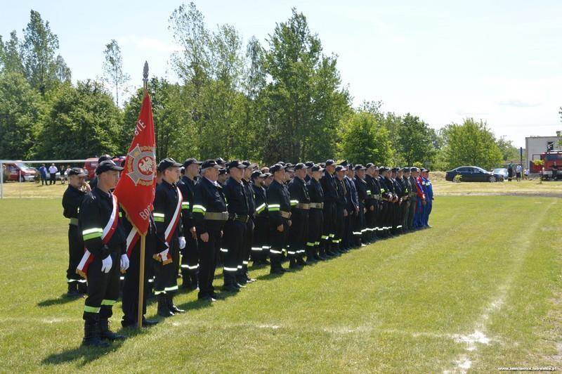
<svg viewBox="0 0 562 374">
<path fill-rule="evenodd" d="M 25 76 L 32 87 L 44 96 L 57 80 L 55 52 L 58 50 L 58 37 L 51 32 L 48 21 L 43 22 L 39 12 L 33 10 L 23 35 L 22 60 Z"/>
</svg>

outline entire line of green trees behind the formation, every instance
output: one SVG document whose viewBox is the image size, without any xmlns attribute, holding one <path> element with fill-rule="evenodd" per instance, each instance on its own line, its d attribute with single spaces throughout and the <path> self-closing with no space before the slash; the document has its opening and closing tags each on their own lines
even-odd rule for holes
<svg viewBox="0 0 562 374">
<path fill-rule="evenodd" d="M 516 148 L 481 120 L 434 129 L 417 115 L 353 108 L 337 56 L 326 54 L 296 9 L 261 43 L 232 25 L 211 30 L 195 4 L 169 17 L 181 49 L 171 56 L 178 82 L 152 77 L 157 158 L 278 160 L 336 157 L 379 165 L 487 169 L 517 160 Z M 58 37 L 37 11 L 22 39 L 0 36 L 0 158 L 69 159 L 129 147 L 143 91 L 122 101 L 130 77 L 117 41 L 105 44 L 103 77 L 71 81 Z M 101 48 L 100 48 L 101 49 Z M 141 63 L 141 62 L 139 62 Z M 121 105 L 120 105 L 121 104 Z"/>
</svg>

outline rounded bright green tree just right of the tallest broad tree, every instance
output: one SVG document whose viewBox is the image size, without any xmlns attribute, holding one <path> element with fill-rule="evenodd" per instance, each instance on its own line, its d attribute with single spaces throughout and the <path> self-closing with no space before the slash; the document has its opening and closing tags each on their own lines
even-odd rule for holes
<svg viewBox="0 0 562 374">
<path fill-rule="evenodd" d="M 370 112 L 349 115 L 342 123 L 340 155 L 351 162 L 366 165 L 391 162 L 391 139 L 388 130 Z"/>
</svg>

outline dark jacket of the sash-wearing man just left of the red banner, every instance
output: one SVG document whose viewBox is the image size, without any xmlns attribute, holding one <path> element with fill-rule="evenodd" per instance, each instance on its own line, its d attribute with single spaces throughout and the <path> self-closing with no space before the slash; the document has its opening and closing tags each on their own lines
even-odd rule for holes
<svg viewBox="0 0 562 374">
<path fill-rule="evenodd" d="M 113 198 L 110 193 L 105 193 L 99 188 L 94 188 L 86 194 L 79 212 L 79 225 L 84 238 L 84 245 L 94 256 L 105 259 L 110 252 L 126 252 L 126 236 L 124 228 L 119 221 L 107 245 L 101 241 L 103 228 L 110 220 L 113 213 Z M 119 220 L 119 217 L 117 217 Z"/>
</svg>

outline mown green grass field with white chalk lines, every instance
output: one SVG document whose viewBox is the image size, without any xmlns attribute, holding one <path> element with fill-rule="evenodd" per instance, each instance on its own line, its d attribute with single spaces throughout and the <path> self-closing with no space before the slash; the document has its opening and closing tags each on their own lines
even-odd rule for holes
<svg viewBox="0 0 562 374">
<path fill-rule="evenodd" d="M 513 183 L 513 182 L 512 182 Z M 562 366 L 558 198 L 449 196 L 430 230 L 259 281 L 111 349 L 84 349 L 66 299 L 59 198 L 0 200 L 1 371 L 452 372 Z M 216 281 L 221 285 L 221 279 Z M 119 326 L 120 304 L 112 318 Z M 148 316 L 156 311 L 150 304 Z M 490 339 L 467 343 L 481 332 Z M 558 345 L 557 345 L 558 344 Z"/>
</svg>

